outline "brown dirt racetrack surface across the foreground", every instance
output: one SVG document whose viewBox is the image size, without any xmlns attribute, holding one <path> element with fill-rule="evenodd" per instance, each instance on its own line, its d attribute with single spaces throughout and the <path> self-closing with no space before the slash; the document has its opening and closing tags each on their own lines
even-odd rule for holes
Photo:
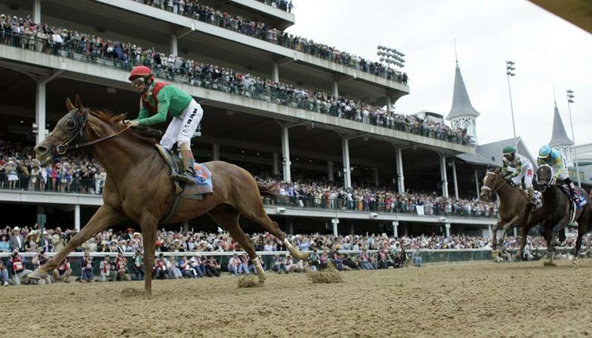
<svg viewBox="0 0 592 338">
<path fill-rule="evenodd" d="M 268 274 L 2 288 L 3 337 L 589 336 L 592 261 L 432 265 L 343 273 L 343 284 Z"/>
</svg>

